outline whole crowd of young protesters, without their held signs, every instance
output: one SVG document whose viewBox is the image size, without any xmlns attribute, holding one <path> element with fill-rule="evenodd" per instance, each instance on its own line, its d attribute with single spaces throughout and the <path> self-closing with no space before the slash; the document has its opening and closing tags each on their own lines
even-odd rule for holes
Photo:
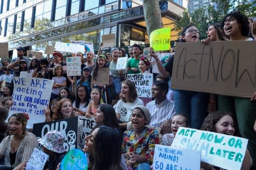
<svg viewBox="0 0 256 170">
<path fill-rule="evenodd" d="M 255 41 L 256 23 L 240 12 L 231 12 L 222 23 L 209 25 L 207 36 L 201 41 L 205 45 L 209 41 Z M 199 42 L 199 37 L 197 28 L 187 25 L 178 42 Z M 127 54 L 125 49 L 119 48 L 112 48 L 110 52 L 100 49 L 96 58 L 92 52 L 77 52 L 76 56 L 81 58 L 81 76 L 67 76 L 67 65 L 61 52 L 54 52 L 52 58 L 29 59 L 24 56 L 25 49 L 18 47 L 18 58 L 13 61 L 3 58 L 0 67 L 3 97 L 0 103 L 0 158 L 3 165 L 0 169 L 24 169 L 32 150 L 39 147 L 38 142 L 51 158 L 46 168 L 59 168 L 66 153 L 59 131 L 49 131 L 38 141 L 26 130 L 27 116 L 22 113 L 11 115 L 5 124 L 13 104 L 12 78 L 24 75 L 53 80 L 51 100 L 44 110 L 46 122 L 73 116 L 95 118 L 97 124 L 85 138 L 83 149 L 89 155 L 88 169 L 150 169 L 155 144 L 171 146 L 179 127 L 248 139 L 242 169 L 254 169 L 256 92 L 249 99 L 171 90 L 174 49 L 164 60 L 159 59 L 159 53 L 153 48 L 148 56 L 143 56 L 142 46 L 138 44 L 128 46 Z M 118 58 L 125 56 L 129 56 L 127 69 L 117 70 Z M 135 83 L 127 80 L 127 74 L 150 74 L 152 65 L 156 65 L 159 74 L 154 73 L 152 99 L 145 99 L 138 96 Z M 92 80 L 96 80 L 102 68 L 110 70 L 109 83 L 93 84 Z M 201 169 L 220 168 L 202 162 Z"/>
</svg>

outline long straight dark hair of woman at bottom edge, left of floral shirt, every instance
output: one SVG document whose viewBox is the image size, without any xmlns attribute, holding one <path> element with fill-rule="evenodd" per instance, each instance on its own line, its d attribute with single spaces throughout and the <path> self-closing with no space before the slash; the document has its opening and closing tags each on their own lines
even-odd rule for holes
<svg viewBox="0 0 256 170">
<path fill-rule="evenodd" d="M 94 138 L 93 160 L 92 169 L 123 169 L 120 165 L 121 142 L 117 131 L 100 126 Z"/>
</svg>

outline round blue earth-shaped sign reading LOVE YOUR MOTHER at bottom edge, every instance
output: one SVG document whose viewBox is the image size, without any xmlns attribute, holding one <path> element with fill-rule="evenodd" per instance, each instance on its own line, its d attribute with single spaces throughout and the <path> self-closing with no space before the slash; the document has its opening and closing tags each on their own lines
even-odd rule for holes
<svg viewBox="0 0 256 170">
<path fill-rule="evenodd" d="M 84 152 L 79 149 L 69 151 L 60 164 L 60 170 L 76 169 L 87 170 L 88 163 Z"/>
</svg>

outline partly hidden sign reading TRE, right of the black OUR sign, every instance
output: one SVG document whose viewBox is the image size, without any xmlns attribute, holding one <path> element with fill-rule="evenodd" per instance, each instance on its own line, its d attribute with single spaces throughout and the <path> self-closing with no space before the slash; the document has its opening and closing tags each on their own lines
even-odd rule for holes
<svg viewBox="0 0 256 170">
<path fill-rule="evenodd" d="M 78 145 L 84 148 L 85 141 L 84 138 L 90 134 L 94 125 L 96 125 L 95 118 L 87 118 L 85 116 L 79 116 L 79 121 L 82 124 L 82 130 L 77 132 L 78 135 Z"/>
</svg>

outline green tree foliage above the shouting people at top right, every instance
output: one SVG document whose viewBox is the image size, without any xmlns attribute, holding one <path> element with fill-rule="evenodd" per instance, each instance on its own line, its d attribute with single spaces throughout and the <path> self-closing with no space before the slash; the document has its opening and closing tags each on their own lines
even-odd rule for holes
<svg viewBox="0 0 256 170">
<path fill-rule="evenodd" d="M 175 30 L 181 33 L 187 25 L 195 25 L 199 29 L 200 37 L 206 36 L 207 28 L 212 23 L 221 23 L 222 18 L 231 11 L 238 10 L 251 17 L 256 16 L 256 0 L 247 3 L 246 0 L 212 0 L 215 5 L 204 6 L 193 11 L 183 11 L 183 18 L 175 21 Z"/>
</svg>

